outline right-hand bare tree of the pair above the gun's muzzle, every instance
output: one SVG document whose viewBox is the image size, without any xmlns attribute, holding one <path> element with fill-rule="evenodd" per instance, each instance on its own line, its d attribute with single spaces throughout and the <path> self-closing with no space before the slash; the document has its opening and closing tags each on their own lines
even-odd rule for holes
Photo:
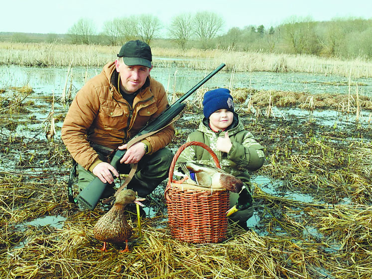
<svg viewBox="0 0 372 279">
<path fill-rule="evenodd" d="M 194 32 L 204 48 L 207 47 L 207 42 L 222 29 L 223 25 L 223 18 L 214 12 L 201 11 L 194 16 Z"/>
</svg>

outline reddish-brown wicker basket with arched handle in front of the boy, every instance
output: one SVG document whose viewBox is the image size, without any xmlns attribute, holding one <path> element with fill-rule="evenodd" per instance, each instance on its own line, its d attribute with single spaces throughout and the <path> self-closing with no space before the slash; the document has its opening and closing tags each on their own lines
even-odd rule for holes
<svg viewBox="0 0 372 279">
<path fill-rule="evenodd" d="M 173 183 L 173 172 L 178 156 L 190 145 L 202 146 L 220 167 L 216 154 L 206 144 L 189 141 L 176 152 L 169 170 L 165 190 L 168 221 L 174 238 L 192 243 L 218 243 L 226 239 L 229 191 L 209 189 L 189 184 Z"/>
</svg>

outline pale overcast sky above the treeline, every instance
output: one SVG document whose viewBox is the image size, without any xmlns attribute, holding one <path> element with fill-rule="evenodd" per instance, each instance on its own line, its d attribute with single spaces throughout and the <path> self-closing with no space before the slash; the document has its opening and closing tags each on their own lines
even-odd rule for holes
<svg viewBox="0 0 372 279">
<path fill-rule="evenodd" d="M 152 13 L 167 25 L 183 12 L 213 11 L 225 31 L 248 25 L 279 25 L 291 16 L 314 20 L 372 18 L 372 0 L 1 0 L 0 32 L 66 33 L 80 18 L 90 18 L 98 32 L 116 17 Z"/>
</svg>

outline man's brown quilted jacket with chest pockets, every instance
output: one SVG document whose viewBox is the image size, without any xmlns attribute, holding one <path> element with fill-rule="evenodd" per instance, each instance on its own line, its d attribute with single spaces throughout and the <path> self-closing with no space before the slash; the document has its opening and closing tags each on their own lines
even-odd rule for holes
<svg viewBox="0 0 372 279">
<path fill-rule="evenodd" d="M 72 157 L 87 170 L 100 160 L 89 141 L 116 149 L 168 106 L 163 85 L 147 78 L 130 108 L 117 89 L 115 63 L 90 79 L 76 94 L 62 127 L 62 140 Z M 165 147 L 174 136 L 170 125 L 146 138 L 150 153 Z"/>
</svg>

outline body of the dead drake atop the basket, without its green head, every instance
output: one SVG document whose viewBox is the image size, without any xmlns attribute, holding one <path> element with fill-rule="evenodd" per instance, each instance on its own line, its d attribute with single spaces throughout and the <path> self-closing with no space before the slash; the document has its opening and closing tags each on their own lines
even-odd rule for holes
<svg viewBox="0 0 372 279">
<path fill-rule="evenodd" d="M 182 183 L 190 178 L 190 180 L 187 181 L 188 184 L 206 188 L 225 188 L 234 193 L 240 193 L 242 191 L 244 185 L 242 180 L 222 169 L 198 163 L 179 162 L 177 164 L 179 168 L 174 174 L 183 177 L 178 183 Z M 177 183 L 177 181 L 175 182 Z"/>
</svg>

